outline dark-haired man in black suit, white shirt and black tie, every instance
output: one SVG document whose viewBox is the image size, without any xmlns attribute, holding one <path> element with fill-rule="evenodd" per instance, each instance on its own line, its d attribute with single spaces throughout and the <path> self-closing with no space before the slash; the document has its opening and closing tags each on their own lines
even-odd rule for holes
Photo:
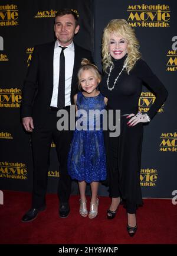
<svg viewBox="0 0 177 256">
<path fill-rule="evenodd" d="M 70 105 L 78 91 L 77 71 L 81 59 L 91 60 L 91 52 L 73 42 L 79 30 L 77 15 L 70 9 L 61 9 L 55 15 L 56 41 L 35 47 L 27 78 L 24 82 L 21 116 L 27 132 L 32 132 L 34 184 L 32 208 L 22 222 L 34 220 L 45 209 L 47 177 L 51 142 L 56 145 L 60 163 L 58 181 L 59 215 L 67 217 L 71 179 L 67 173 L 67 155 L 73 133 L 57 130 L 57 111 L 65 109 L 70 118 Z"/>
</svg>

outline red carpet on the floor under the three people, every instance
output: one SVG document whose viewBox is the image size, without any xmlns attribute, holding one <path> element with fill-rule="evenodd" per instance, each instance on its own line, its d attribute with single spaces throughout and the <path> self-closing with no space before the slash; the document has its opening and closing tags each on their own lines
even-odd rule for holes
<svg viewBox="0 0 177 256">
<path fill-rule="evenodd" d="M 4 191 L 0 205 L 0 244 L 177 244 L 177 204 L 171 200 L 144 199 L 137 210 L 138 230 L 130 238 L 126 231 L 126 210 L 119 207 L 116 218 L 107 220 L 108 197 L 99 197 L 96 219 L 78 213 L 79 196 L 71 196 L 67 219 L 58 217 L 56 194 L 47 194 L 47 209 L 30 223 L 21 217 L 29 209 L 31 194 Z M 87 198 L 88 206 L 90 203 Z"/>
</svg>

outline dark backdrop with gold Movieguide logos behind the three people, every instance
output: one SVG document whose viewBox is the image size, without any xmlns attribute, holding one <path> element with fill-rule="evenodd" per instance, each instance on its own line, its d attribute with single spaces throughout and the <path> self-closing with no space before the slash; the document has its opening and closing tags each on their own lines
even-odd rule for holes
<svg viewBox="0 0 177 256">
<path fill-rule="evenodd" d="M 30 134 L 22 128 L 22 85 L 35 44 L 54 40 L 54 16 L 58 9 L 77 13 L 80 32 L 75 41 L 93 52 L 101 70 L 101 36 L 113 18 L 124 18 L 135 28 L 140 51 L 152 71 L 168 89 L 168 100 L 145 126 L 140 184 L 143 197 L 171 198 L 177 190 L 176 172 L 176 73 L 177 2 L 140 0 L 26 0 L 0 4 L 0 190 L 32 190 Z M 147 112 L 155 95 L 143 87 L 139 108 Z M 50 151 L 48 192 L 56 193 L 60 167 L 55 145 Z M 77 194 L 73 181 L 72 194 Z M 89 186 L 87 193 L 90 193 Z M 107 196 L 100 184 L 99 194 Z"/>
</svg>

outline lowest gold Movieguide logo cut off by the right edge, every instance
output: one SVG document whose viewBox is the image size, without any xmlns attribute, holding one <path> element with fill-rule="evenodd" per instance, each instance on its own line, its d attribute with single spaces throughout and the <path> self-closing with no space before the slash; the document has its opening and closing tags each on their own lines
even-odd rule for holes
<svg viewBox="0 0 177 256">
<path fill-rule="evenodd" d="M 159 151 L 177 152 L 177 133 L 162 133 Z"/>
</svg>

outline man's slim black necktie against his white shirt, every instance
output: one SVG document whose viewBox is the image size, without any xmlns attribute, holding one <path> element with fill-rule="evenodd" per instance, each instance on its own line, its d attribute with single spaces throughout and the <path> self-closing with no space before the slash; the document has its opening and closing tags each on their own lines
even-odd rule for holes
<svg viewBox="0 0 177 256">
<path fill-rule="evenodd" d="M 61 47 L 60 53 L 60 76 L 58 84 L 58 108 L 64 108 L 65 106 L 65 60 L 64 60 L 64 49 L 67 47 Z"/>
</svg>

